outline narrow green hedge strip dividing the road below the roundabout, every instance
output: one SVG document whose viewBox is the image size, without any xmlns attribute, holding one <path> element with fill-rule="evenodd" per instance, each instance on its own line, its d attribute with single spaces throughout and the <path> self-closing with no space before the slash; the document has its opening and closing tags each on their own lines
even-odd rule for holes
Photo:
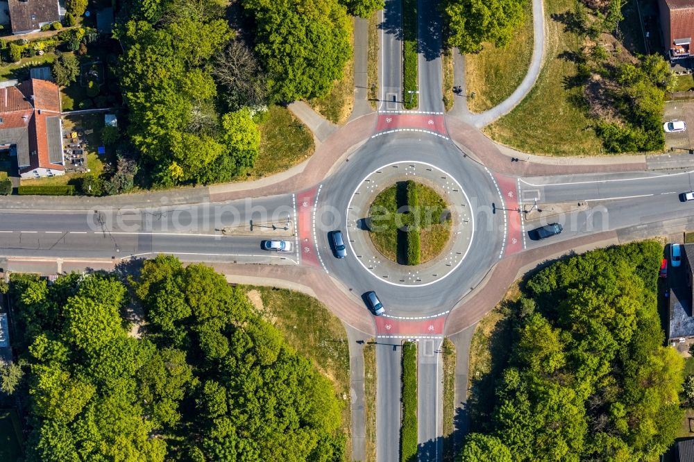
<svg viewBox="0 0 694 462">
<path fill-rule="evenodd" d="M 403 426 L 400 428 L 400 460 L 417 459 L 417 344 L 403 343 Z"/>
</svg>

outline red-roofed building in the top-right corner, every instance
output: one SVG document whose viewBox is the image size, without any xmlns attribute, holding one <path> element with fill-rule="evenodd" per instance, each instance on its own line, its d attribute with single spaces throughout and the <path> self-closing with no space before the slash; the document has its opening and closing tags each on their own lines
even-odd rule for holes
<svg viewBox="0 0 694 462">
<path fill-rule="evenodd" d="M 671 60 L 694 55 L 694 0 L 658 0 L 663 44 Z"/>
</svg>

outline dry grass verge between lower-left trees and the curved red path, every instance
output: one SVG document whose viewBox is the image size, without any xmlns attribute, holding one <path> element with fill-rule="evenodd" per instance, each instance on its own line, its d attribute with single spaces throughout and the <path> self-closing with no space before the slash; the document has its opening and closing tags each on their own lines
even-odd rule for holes
<svg viewBox="0 0 694 462">
<path fill-rule="evenodd" d="M 328 377 L 344 401 L 341 429 L 346 460 L 352 460 L 350 373 L 347 333 L 340 320 L 321 302 L 303 293 L 262 286 L 244 286 L 253 307 L 277 327 L 292 345 Z"/>
</svg>

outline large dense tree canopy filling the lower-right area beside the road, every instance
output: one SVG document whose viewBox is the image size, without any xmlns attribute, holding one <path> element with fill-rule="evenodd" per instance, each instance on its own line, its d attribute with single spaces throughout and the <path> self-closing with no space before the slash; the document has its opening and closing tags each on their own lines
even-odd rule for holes
<svg viewBox="0 0 694 462">
<path fill-rule="evenodd" d="M 464 460 L 654 460 L 672 444 L 683 366 L 662 346 L 662 253 L 652 241 L 595 250 L 527 282 L 496 407 Z"/>
</svg>

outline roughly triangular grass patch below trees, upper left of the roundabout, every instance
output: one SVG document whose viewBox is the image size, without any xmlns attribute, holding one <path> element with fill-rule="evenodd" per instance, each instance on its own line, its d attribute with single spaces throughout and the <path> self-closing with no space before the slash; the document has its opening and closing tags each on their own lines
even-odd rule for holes
<svg viewBox="0 0 694 462">
<path fill-rule="evenodd" d="M 260 124 L 260 152 L 255 166 L 248 171 L 248 180 L 291 169 L 314 152 L 311 130 L 287 108 L 273 105 L 266 121 Z"/>
</svg>

